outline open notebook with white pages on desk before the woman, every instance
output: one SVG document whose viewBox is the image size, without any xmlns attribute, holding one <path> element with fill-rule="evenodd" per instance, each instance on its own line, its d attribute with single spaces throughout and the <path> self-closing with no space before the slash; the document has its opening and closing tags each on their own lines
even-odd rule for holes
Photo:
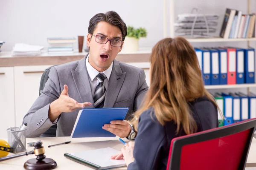
<svg viewBox="0 0 256 170">
<path fill-rule="evenodd" d="M 87 150 L 76 153 L 65 153 L 67 159 L 71 159 L 80 164 L 99 170 L 107 170 L 116 167 L 126 166 L 124 160 L 114 160 L 111 156 L 118 154 L 120 151 L 111 147 L 105 147 L 96 150 Z"/>
</svg>

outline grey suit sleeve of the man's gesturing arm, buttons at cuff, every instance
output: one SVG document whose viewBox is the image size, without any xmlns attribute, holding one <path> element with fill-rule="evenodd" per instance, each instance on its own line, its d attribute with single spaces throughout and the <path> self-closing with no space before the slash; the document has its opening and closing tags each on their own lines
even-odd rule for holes
<svg viewBox="0 0 256 170">
<path fill-rule="evenodd" d="M 44 90 L 40 91 L 40 93 L 41 95 L 35 100 L 34 104 L 23 118 L 23 122 L 28 124 L 26 137 L 40 136 L 48 130 L 49 127 L 58 122 L 52 123 L 48 117 L 50 103 L 58 99 L 61 94 L 56 68 L 51 68 L 49 79 L 45 83 Z"/>
</svg>

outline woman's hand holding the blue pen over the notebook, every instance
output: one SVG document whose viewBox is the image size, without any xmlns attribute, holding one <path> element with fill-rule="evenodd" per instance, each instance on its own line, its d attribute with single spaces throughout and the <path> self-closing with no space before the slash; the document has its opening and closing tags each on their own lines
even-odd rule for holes
<svg viewBox="0 0 256 170">
<path fill-rule="evenodd" d="M 123 159 L 125 159 L 126 166 L 128 166 L 131 162 L 134 161 L 133 150 L 134 150 L 134 141 L 131 141 L 128 144 L 125 144 L 125 146 L 122 147 L 121 149 L 122 156 L 123 156 Z"/>
</svg>

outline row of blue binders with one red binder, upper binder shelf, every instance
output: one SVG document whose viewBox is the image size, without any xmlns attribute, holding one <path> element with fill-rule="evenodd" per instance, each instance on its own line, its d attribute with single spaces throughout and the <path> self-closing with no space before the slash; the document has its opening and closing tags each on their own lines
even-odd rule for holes
<svg viewBox="0 0 256 170">
<path fill-rule="evenodd" d="M 205 85 L 255 83 L 254 48 L 195 48 Z"/>
</svg>

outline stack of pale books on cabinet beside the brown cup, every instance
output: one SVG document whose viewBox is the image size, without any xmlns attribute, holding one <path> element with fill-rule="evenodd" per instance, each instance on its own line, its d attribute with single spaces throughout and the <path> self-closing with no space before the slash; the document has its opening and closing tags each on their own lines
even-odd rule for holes
<svg viewBox="0 0 256 170">
<path fill-rule="evenodd" d="M 70 54 L 74 52 L 73 44 L 76 42 L 74 37 L 48 38 L 48 54 Z"/>
</svg>

